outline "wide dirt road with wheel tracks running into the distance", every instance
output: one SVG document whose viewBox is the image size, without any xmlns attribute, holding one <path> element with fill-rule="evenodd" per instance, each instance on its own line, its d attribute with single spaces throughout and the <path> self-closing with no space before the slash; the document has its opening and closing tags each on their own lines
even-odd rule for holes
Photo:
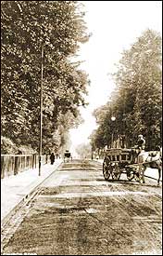
<svg viewBox="0 0 163 256">
<path fill-rule="evenodd" d="M 2 230 L 1 254 L 162 255 L 162 189 L 106 182 L 95 161 L 63 163 Z"/>
</svg>

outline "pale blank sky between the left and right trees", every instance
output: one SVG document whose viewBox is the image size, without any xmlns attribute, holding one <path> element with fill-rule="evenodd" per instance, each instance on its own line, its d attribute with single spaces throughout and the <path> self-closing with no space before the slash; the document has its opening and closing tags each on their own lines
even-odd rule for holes
<svg viewBox="0 0 163 256">
<path fill-rule="evenodd" d="M 97 128 L 94 109 L 107 103 L 115 87 L 111 76 L 124 49 L 129 49 L 146 29 L 162 32 L 162 1 L 81 1 L 85 11 L 84 21 L 92 36 L 81 45 L 81 69 L 91 80 L 89 105 L 81 108 L 84 123 L 70 130 L 71 151 L 87 143 Z"/>
</svg>

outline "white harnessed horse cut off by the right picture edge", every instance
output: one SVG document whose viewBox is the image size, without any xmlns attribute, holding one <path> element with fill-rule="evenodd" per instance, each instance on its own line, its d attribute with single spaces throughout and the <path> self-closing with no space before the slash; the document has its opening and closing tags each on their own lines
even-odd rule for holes
<svg viewBox="0 0 163 256">
<path fill-rule="evenodd" d="M 144 183 L 145 169 L 147 167 L 157 168 L 158 169 L 157 185 L 159 185 L 159 181 L 161 178 L 161 170 L 162 170 L 162 148 L 160 148 L 160 150 L 158 151 L 150 151 L 150 152 L 142 151 L 138 155 L 138 164 L 139 164 L 139 176 L 141 175 L 141 172 L 142 172 L 143 183 Z"/>
</svg>

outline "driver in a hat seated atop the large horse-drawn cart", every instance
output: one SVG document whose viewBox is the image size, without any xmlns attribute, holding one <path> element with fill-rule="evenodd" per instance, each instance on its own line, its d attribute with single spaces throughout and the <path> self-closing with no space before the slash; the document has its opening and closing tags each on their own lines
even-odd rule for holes
<svg viewBox="0 0 163 256">
<path fill-rule="evenodd" d="M 132 149 L 132 164 L 135 163 L 137 156 L 144 150 L 145 140 L 142 134 L 138 135 L 137 145 Z"/>
</svg>

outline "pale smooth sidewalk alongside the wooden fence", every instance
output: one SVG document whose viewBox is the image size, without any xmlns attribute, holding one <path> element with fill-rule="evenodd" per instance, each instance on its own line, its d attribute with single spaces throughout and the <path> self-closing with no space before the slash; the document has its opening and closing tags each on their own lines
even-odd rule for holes
<svg viewBox="0 0 163 256">
<path fill-rule="evenodd" d="M 62 159 L 56 159 L 53 165 L 45 164 L 41 169 L 28 169 L 18 175 L 12 175 L 1 180 L 1 222 L 31 191 L 44 181 L 58 166 Z"/>
</svg>

